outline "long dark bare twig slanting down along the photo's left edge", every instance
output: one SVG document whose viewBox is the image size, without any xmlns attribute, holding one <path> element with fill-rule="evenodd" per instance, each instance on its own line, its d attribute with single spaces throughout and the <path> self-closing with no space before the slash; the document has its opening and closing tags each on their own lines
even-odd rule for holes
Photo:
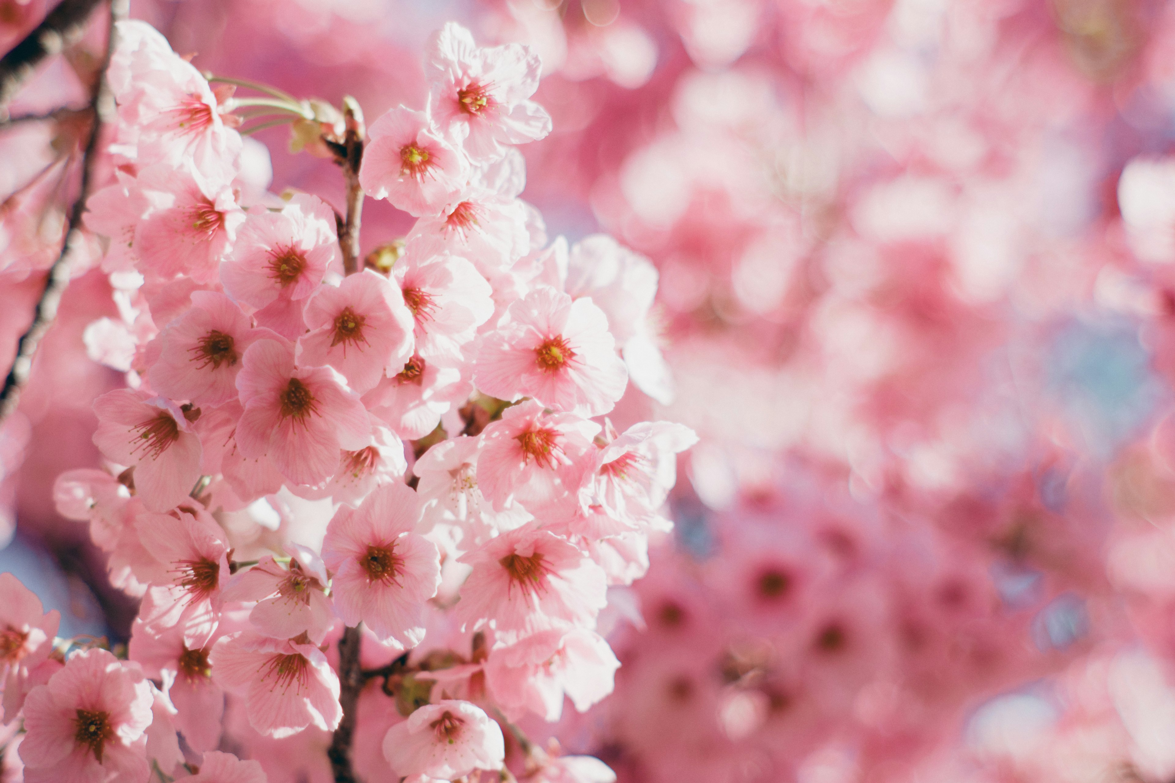
<svg viewBox="0 0 1175 783">
<path fill-rule="evenodd" d="M 66 4 L 62 2 L 61 5 Z M 66 231 L 65 245 L 62 245 L 58 259 L 49 268 L 49 274 L 45 281 L 45 289 L 41 291 L 41 296 L 36 302 L 36 309 L 33 312 L 33 323 L 16 344 L 16 358 L 13 359 L 12 369 L 4 382 L 4 390 L 0 391 L 0 421 L 4 421 L 9 413 L 16 410 L 16 404 L 20 400 L 20 390 L 28 382 L 28 376 L 33 370 L 33 355 L 36 352 L 36 346 L 40 344 L 41 338 L 49 331 L 49 326 L 53 325 L 53 320 L 56 318 L 58 305 L 61 303 L 61 296 L 69 284 L 74 259 L 81 251 L 82 243 L 85 242 L 81 230 L 81 216 L 86 210 L 86 198 L 89 196 L 89 189 L 94 178 L 98 141 L 102 133 L 103 119 L 110 116 L 114 112 L 114 99 L 109 94 L 106 83 L 106 68 L 110 63 L 110 53 L 114 50 L 115 45 L 114 23 L 126 15 L 127 5 L 128 0 L 110 0 L 110 20 L 107 32 L 106 53 L 102 56 L 102 67 L 99 70 L 94 83 L 94 92 L 89 101 L 89 110 L 93 114 L 93 119 L 90 121 L 89 136 L 86 139 L 86 147 L 82 150 L 81 183 L 78 188 L 78 197 L 69 209 L 69 225 Z M 58 8 L 60 7 L 58 6 Z M 53 13 L 56 13 L 56 8 Z M 2 83 L 0 83 L 0 90 L 2 88 Z"/>
</svg>

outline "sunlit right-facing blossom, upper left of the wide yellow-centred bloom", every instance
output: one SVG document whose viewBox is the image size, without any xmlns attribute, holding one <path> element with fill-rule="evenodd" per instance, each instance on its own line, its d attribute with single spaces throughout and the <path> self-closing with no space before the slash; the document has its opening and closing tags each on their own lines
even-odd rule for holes
<svg viewBox="0 0 1175 783">
<path fill-rule="evenodd" d="M 490 284 L 454 256 L 409 255 L 394 274 L 416 322 L 416 352 L 425 359 L 462 360 L 477 328 L 494 315 Z"/>
</svg>

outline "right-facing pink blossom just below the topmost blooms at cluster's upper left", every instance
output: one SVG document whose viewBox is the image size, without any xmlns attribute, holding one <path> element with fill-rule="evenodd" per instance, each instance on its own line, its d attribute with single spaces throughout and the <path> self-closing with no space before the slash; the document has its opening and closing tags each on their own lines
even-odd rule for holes
<svg viewBox="0 0 1175 783">
<path fill-rule="evenodd" d="M 220 262 L 244 222 L 229 181 L 183 163 L 174 168 L 157 163 L 139 174 L 139 187 L 152 207 L 134 239 L 145 275 L 215 282 Z"/>
</svg>

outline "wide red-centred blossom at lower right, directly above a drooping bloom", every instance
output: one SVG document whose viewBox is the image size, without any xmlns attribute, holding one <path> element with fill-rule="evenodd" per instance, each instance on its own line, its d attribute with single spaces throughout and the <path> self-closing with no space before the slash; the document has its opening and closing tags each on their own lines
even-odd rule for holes
<svg viewBox="0 0 1175 783">
<path fill-rule="evenodd" d="M 603 569 L 535 524 L 490 539 L 461 561 L 474 568 L 456 608 L 468 628 L 490 625 L 501 635 L 591 627 L 606 602 Z"/>
</svg>

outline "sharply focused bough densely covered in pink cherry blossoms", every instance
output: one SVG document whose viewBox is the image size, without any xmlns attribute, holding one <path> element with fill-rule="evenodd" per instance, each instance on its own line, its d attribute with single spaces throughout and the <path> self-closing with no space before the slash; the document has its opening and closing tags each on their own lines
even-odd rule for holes
<svg viewBox="0 0 1175 783">
<path fill-rule="evenodd" d="M 256 783 L 250 748 L 303 734 L 336 781 L 607 776 L 512 721 L 612 690 L 597 621 L 647 568 L 694 437 L 605 418 L 629 386 L 616 335 L 649 302 L 576 284 L 578 247 L 518 200 L 512 146 L 551 129 L 537 55 L 450 23 L 425 74 L 424 106 L 365 128 L 352 99 L 201 74 L 149 25 L 112 26 L 94 94 L 116 114 L 76 211 L 88 196 L 133 358 L 94 403 L 106 470 L 54 497 L 141 603 L 109 650 L 0 578 L 26 781 Z M 281 123 L 338 164 L 341 209 L 250 181 L 244 139 Z M 361 258 L 368 196 L 418 221 Z"/>
</svg>

